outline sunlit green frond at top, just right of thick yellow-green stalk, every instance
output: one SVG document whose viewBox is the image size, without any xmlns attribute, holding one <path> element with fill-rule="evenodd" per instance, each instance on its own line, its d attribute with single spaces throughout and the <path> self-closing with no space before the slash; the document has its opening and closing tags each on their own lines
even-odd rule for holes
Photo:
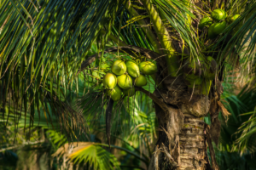
<svg viewBox="0 0 256 170">
<path fill-rule="evenodd" d="M 160 14 L 168 20 L 170 31 L 177 31 L 177 35 L 171 32 L 170 34 L 172 37 L 180 39 L 181 42 L 178 43 L 183 46 L 182 49 L 184 50 L 185 47 L 189 48 L 192 59 L 201 55 L 200 43 L 195 36 L 194 28 L 188 21 L 195 18 L 195 15 L 189 11 L 191 8 L 194 8 L 193 4 L 188 3 L 188 1 L 154 0 L 153 2 L 160 10 Z"/>
</svg>

